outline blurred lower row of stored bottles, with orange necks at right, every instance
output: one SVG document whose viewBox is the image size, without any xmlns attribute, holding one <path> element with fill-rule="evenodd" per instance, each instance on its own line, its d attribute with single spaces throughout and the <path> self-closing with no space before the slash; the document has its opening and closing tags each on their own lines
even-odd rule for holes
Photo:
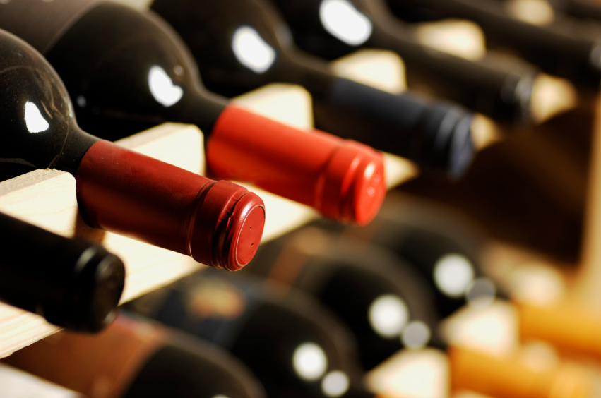
<svg viewBox="0 0 601 398">
<path fill-rule="evenodd" d="M 596 397 L 601 322 L 557 272 L 536 270 L 539 294 L 520 287 L 532 275 L 503 282 L 487 237 L 417 203 L 389 200 L 367 234 L 312 224 L 5 361 L 88 397 Z"/>
</svg>

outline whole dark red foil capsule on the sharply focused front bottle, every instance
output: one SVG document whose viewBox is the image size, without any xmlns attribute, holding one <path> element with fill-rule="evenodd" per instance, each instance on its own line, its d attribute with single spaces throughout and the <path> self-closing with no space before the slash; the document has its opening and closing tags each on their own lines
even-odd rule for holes
<svg viewBox="0 0 601 398">
<path fill-rule="evenodd" d="M 253 258 L 265 224 L 263 200 L 101 140 L 76 172 L 80 212 L 90 226 L 190 255 L 230 271 Z"/>
</svg>

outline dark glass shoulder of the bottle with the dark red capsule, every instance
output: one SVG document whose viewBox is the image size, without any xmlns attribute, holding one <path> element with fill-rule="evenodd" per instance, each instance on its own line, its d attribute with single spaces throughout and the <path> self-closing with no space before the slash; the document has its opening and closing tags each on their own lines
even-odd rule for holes
<svg viewBox="0 0 601 398">
<path fill-rule="evenodd" d="M 28 44 L 0 32 L 0 162 L 32 168 L 76 169 L 81 140 L 69 95 L 56 72 Z M 69 153 L 71 151 L 71 153 Z"/>
</svg>

